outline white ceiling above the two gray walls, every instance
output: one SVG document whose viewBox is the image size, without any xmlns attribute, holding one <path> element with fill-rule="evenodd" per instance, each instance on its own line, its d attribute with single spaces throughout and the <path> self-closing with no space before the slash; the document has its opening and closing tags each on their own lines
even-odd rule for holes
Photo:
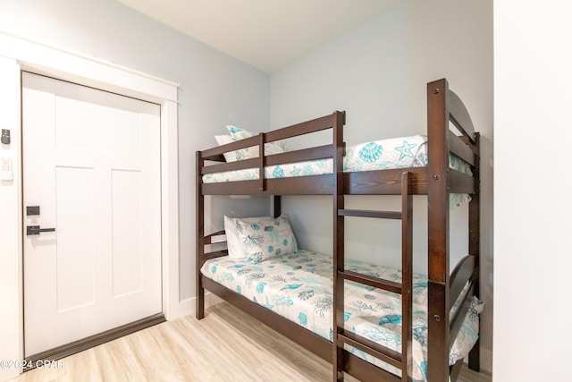
<svg viewBox="0 0 572 382">
<path fill-rule="evenodd" d="M 399 0 L 118 1 L 258 69 L 275 72 Z"/>
</svg>

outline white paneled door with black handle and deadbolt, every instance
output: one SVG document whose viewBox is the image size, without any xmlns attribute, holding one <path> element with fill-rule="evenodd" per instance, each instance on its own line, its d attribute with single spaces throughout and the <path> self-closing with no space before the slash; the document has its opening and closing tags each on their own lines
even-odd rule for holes
<svg viewBox="0 0 572 382">
<path fill-rule="evenodd" d="M 22 161 L 25 356 L 160 313 L 160 106 L 23 72 Z"/>
</svg>

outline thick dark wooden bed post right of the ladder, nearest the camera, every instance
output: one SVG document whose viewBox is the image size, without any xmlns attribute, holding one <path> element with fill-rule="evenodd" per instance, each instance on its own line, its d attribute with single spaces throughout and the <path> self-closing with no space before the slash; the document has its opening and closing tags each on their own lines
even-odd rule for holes
<svg viewBox="0 0 572 382">
<path fill-rule="evenodd" d="M 427 379 L 449 379 L 449 109 L 446 79 L 427 84 Z"/>
</svg>

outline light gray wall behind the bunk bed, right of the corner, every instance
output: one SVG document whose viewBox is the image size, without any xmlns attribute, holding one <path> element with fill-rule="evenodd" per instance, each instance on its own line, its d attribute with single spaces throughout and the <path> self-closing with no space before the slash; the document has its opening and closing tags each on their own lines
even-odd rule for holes
<svg viewBox="0 0 572 382">
<path fill-rule="evenodd" d="M 271 76 L 273 128 L 347 112 L 348 145 L 426 132 L 425 84 L 447 78 L 482 136 L 483 313 L 481 345 L 492 350 L 492 0 L 404 0 L 373 21 Z M 389 200 L 388 200 L 389 199 Z M 426 273 L 426 199 L 414 202 L 416 270 Z M 350 208 L 399 208 L 393 197 L 353 197 Z M 284 198 L 283 209 L 302 246 L 332 252 L 332 199 Z M 451 226 L 466 225 L 452 211 Z M 400 227 L 349 220 L 349 256 L 399 264 Z M 462 231 L 462 230 L 461 230 Z M 455 232 L 458 232 L 456 230 Z M 457 257 L 467 236 L 454 235 Z M 398 265 L 399 267 L 399 265 Z M 486 362 L 486 361 L 485 361 Z M 491 365 L 484 365 L 491 369 Z"/>
</svg>

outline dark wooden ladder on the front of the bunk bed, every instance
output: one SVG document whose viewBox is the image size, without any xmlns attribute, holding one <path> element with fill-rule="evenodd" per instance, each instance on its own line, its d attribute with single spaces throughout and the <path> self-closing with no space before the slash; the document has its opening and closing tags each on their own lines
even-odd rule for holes
<svg viewBox="0 0 572 382">
<path fill-rule="evenodd" d="M 411 368 L 412 359 L 412 289 L 413 289 L 413 267 L 412 267 L 412 233 L 413 233 L 413 205 L 411 195 L 411 174 L 404 172 L 401 174 L 401 211 L 377 211 L 345 209 L 343 196 L 334 203 L 337 214 L 334 221 L 336 233 L 334 247 L 334 277 L 333 277 L 333 299 L 334 299 L 334 330 L 333 335 L 333 380 L 343 381 L 344 370 L 344 344 L 348 344 L 362 352 L 384 361 L 391 366 L 401 370 L 401 380 L 410 380 L 408 370 Z M 383 280 L 374 276 L 359 274 L 357 272 L 345 270 L 344 267 L 344 217 L 374 217 L 384 219 L 401 220 L 401 283 Z M 356 335 L 344 328 L 344 281 L 353 281 L 359 284 L 366 284 L 374 288 L 383 289 L 392 293 L 401 294 L 401 352 L 395 352 L 379 344 L 375 344 L 367 338 Z M 398 377 L 396 377 L 398 379 Z"/>
</svg>

